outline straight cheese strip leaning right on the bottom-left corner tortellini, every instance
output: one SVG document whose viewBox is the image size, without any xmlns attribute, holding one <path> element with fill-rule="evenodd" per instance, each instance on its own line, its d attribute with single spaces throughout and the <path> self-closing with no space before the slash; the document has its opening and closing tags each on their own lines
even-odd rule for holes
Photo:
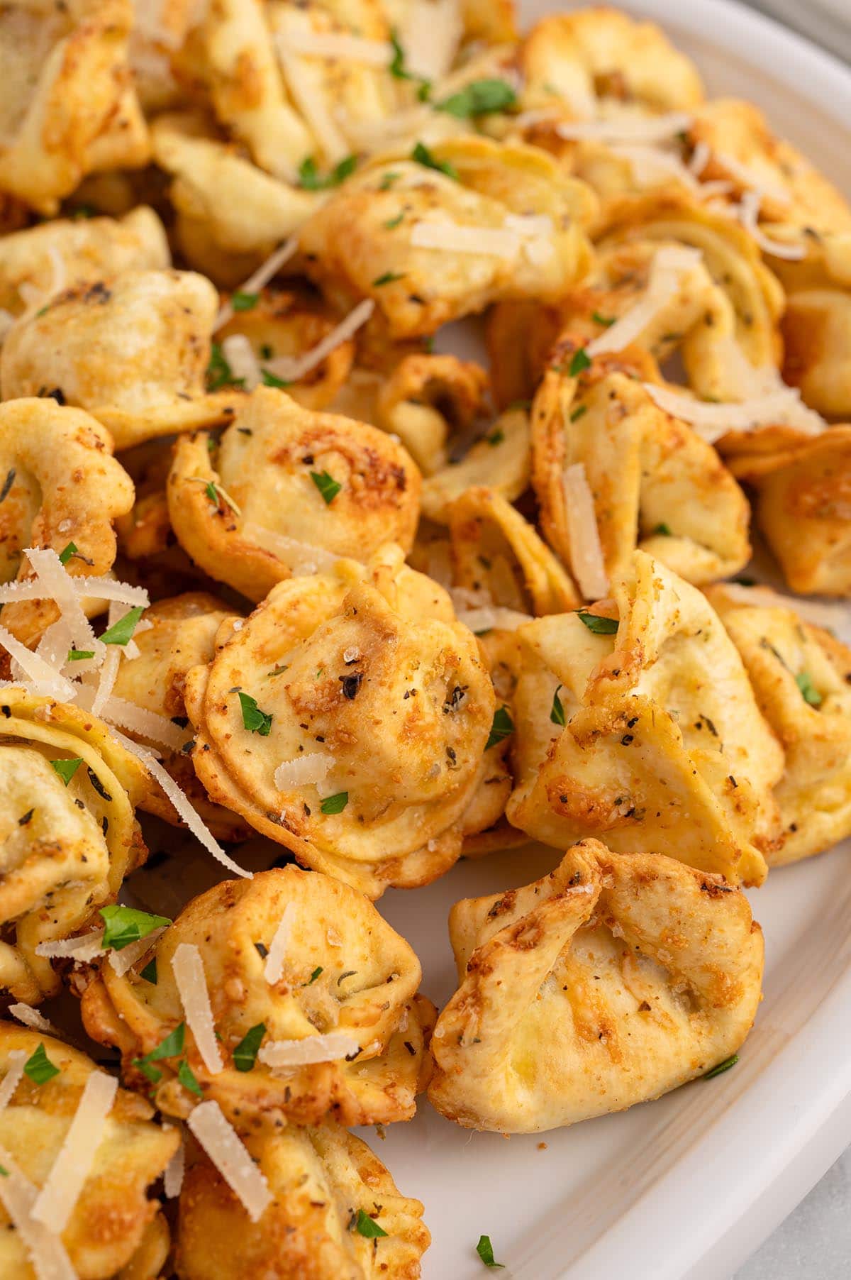
<svg viewBox="0 0 851 1280">
<path fill-rule="evenodd" d="M 79 1106 L 70 1121 L 47 1181 L 32 1207 L 32 1217 L 60 1235 L 68 1226 L 74 1206 L 95 1164 L 106 1117 L 113 1110 L 118 1080 L 105 1071 L 92 1071 L 86 1080 Z"/>
</svg>

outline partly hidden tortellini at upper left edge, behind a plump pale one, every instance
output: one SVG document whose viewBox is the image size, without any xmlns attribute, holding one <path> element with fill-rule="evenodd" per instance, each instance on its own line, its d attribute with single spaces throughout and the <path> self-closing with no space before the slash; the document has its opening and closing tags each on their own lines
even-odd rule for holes
<svg viewBox="0 0 851 1280">
<path fill-rule="evenodd" d="M 0 237 L 0 307 L 19 315 L 82 280 L 170 265 L 165 228 L 145 205 L 120 219 L 60 218 Z"/>
</svg>

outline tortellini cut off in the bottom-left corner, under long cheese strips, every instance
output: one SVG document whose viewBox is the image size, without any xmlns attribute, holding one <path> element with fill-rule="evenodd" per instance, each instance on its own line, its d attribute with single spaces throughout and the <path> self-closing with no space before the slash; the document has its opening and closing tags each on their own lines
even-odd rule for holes
<svg viewBox="0 0 851 1280">
<path fill-rule="evenodd" d="M 23 1075 L 0 1111 L 0 1151 L 5 1178 L 15 1189 L 41 1188 L 68 1134 L 86 1082 L 99 1070 L 76 1048 L 42 1032 L 0 1023 L 0 1068 L 8 1076 L 17 1062 L 40 1048 L 56 1068 L 38 1084 Z M 19 1068 L 18 1068 L 19 1070 Z M 156 1280 L 169 1252 L 169 1229 L 159 1201 L 148 1196 L 180 1144 L 175 1128 L 154 1123 L 148 1103 L 118 1089 L 95 1160 L 65 1230 L 59 1239 L 73 1274 L 86 1280 Z M 0 1192 L 0 1272 L 24 1280 L 36 1272 Z"/>
</svg>

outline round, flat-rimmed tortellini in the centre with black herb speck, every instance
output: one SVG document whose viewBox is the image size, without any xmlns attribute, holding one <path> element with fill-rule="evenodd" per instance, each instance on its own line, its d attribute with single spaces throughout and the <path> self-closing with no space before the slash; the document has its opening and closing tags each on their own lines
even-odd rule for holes
<svg viewBox="0 0 851 1280">
<path fill-rule="evenodd" d="M 443 874 L 511 786 L 476 639 L 401 561 L 279 582 L 186 685 L 209 795 L 371 897 Z"/>
</svg>

